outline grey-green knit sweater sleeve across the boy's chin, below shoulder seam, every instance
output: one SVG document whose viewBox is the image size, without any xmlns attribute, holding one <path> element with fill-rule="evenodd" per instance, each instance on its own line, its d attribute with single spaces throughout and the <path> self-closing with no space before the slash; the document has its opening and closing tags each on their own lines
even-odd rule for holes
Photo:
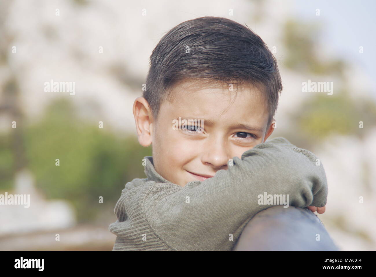
<svg viewBox="0 0 376 277">
<path fill-rule="evenodd" d="M 267 195 L 282 195 L 302 208 L 324 206 L 322 163 L 311 152 L 274 138 L 233 157 L 228 169 L 205 181 L 185 187 L 155 183 L 144 208 L 150 227 L 172 249 L 231 250 L 253 216 L 282 204 L 261 201 Z"/>
</svg>

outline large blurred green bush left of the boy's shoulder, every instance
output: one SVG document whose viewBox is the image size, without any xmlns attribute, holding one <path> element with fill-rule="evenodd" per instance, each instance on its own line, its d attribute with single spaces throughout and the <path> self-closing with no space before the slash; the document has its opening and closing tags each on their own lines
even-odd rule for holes
<svg viewBox="0 0 376 277">
<path fill-rule="evenodd" d="M 2 142 L 7 140 L 3 135 Z M 146 178 L 142 159 L 152 155 L 151 146 L 139 145 L 135 135 L 118 137 L 97 122 L 88 124 L 77 117 L 70 101 L 61 99 L 52 102 L 39 122 L 27 126 L 24 142 L 36 187 L 48 199 L 69 200 L 79 222 L 92 221 L 101 209 L 113 208 L 126 182 Z M 9 168 L 8 149 L 1 145 L 0 164 Z M 13 176 L 7 176 L 2 188 L 9 187 Z M 99 203 L 100 196 L 105 205 Z"/>
</svg>

